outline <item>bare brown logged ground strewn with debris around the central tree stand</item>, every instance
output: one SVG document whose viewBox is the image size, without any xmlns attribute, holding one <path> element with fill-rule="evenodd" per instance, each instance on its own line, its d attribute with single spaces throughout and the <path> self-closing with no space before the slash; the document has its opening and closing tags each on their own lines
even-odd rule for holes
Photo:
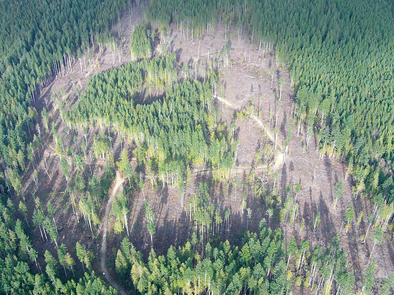
<svg viewBox="0 0 394 295">
<path fill-rule="evenodd" d="M 134 13 L 131 18 L 130 27 L 130 16 L 126 15 L 121 19 L 121 29 L 125 40 L 122 46 L 121 61 L 117 55 L 115 55 L 115 62 L 112 62 L 112 53 L 108 50 L 99 54 L 98 46 L 96 46 L 95 60 L 99 63 L 99 68 L 94 72 L 105 71 L 111 67 L 120 66 L 128 61 L 130 61 L 130 50 L 129 50 L 129 39 L 131 31 L 135 24 L 138 24 L 141 20 L 142 9 L 141 7 L 135 7 Z M 113 30 L 113 35 L 118 37 L 116 30 Z M 229 35 L 229 34 L 227 34 Z M 372 249 L 371 239 L 367 239 L 367 243 L 361 243 L 360 236 L 365 233 L 367 221 L 366 216 L 371 212 L 371 207 L 364 199 L 360 198 L 355 201 L 354 196 L 351 193 L 351 184 L 345 181 L 344 196 L 341 202 L 338 202 L 335 211 L 332 209 L 332 189 L 334 183 L 338 179 L 344 178 L 345 166 L 339 163 L 335 158 L 324 156 L 319 159 L 319 155 L 316 153 L 316 147 L 314 144 L 314 138 L 311 139 L 309 143 L 309 148 L 307 151 L 303 152 L 301 139 L 305 138 L 305 134 L 297 137 L 296 129 L 297 125 L 293 120 L 290 119 L 291 106 L 293 103 L 293 93 L 289 89 L 289 74 L 288 72 L 278 68 L 275 65 L 275 59 L 272 54 L 264 53 L 264 62 L 261 65 L 261 51 L 258 51 L 258 47 L 255 45 L 251 46 L 250 50 L 250 62 L 249 62 L 249 38 L 246 35 L 242 35 L 240 40 L 238 40 L 237 33 L 235 29 L 232 29 L 232 39 L 231 39 L 231 50 L 230 50 L 230 60 L 232 66 L 228 69 L 221 68 L 221 78 L 220 82 L 223 85 L 223 89 L 218 87 L 217 95 L 225 97 L 227 100 L 233 104 L 239 105 L 241 107 L 247 107 L 251 99 L 254 98 L 255 112 L 259 108 L 259 97 L 262 99 L 261 112 L 263 117 L 263 122 L 269 126 L 270 129 L 275 127 L 275 120 L 272 118 L 270 124 L 269 114 L 272 112 L 272 117 L 278 108 L 278 103 L 275 101 L 275 94 L 279 94 L 278 82 L 273 83 L 273 89 L 270 88 L 270 74 L 269 69 L 272 66 L 275 67 L 277 73 L 277 80 L 279 77 L 285 79 L 285 88 L 282 93 L 282 99 L 280 102 L 277 128 L 279 130 L 279 142 L 283 145 L 284 139 L 287 137 L 289 130 L 289 125 L 293 126 L 293 136 L 290 142 L 290 154 L 284 161 L 283 167 L 278 171 L 279 173 L 279 183 L 280 192 L 285 189 L 289 184 L 302 183 L 302 191 L 298 197 L 298 203 L 300 205 L 299 218 L 304 218 L 305 228 L 299 233 L 299 223 L 296 222 L 294 226 L 284 227 L 279 222 L 273 224 L 274 227 L 281 227 L 285 231 L 287 239 L 291 236 L 296 236 L 298 240 L 308 239 L 311 246 L 319 243 L 321 245 L 328 245 L 333 236 L 339 234 L 340 236 L 340 246 L 346 250 L 349 266 L 353 266 L 356 277 L 360 277 L 361 272 L 364 270 L 365 266 L 368 265 L 369 251 Z M 118 39 L 119 40 L 119 39 Z M 170 29 L 170 34 L 167 37 L 167 46 L 171 47 L 171 50 L 177 53 L 179 62 L 188 62 L 190 67 L 193 65 L 193 60 L 197 59 L 198 47 L 200 47 L 200 60 L 199 64 L 203 67 L 204 63 L 208 58 L 208 48 L 211 49 L 212 53 L 220 51 L 226 41 L 224 40 L 224 26 L 219 24 L 215 29 L 215 32 L 209 35 L 205 35 L 200 42 L 197 39 L 192 43 L 191 40 L 187 40 L 177 30 L 174 26 Z M 170 41 L 170 42 L 168 42 Z M 200 43 L 200 44 L 198 44 Z M 170 44 L 170 45 L 168 45 Z M 157 48 L 162 48 L 162 44 L 158 44 Z M 245 54 L 246 52 L 246 54 Z M 214 58 L 215 54 L 210 56 L 210 59 Z M 94 74 L 93 73 L 93 74 Z M 92 74 L 92 73 L 91 73 Z M 71 94 L 67 99 L 67 106 L 70 107 L 73 103 L 72 94 L 73 84 L 80 85 L 84 87 L 87 83 L 87 77 L 81 74 L 79 61 L 77 60 L 72 68 L 72 72 L 67 73 L 63 77 L 58 77 L 47 89 L 43 91 L 42 96 L 37 99 L 36 109 L 38 112 L 42 110 L 44 106 L 47 105 L 47 110 L 49 114 L 54 118 L 55 123 L 58 126 L 58 132 L 64 136 L 65 146 L 71 143 L 73 135 L 67 134 L 65 132 L 66 125 L 59 118 L 58 111 L 54 111 L 51 102 L 51 92 L 58 93 L 60 96 L 60 89 L 66 90 L 67 94 Z M 254 93 L 259 92 L 259 93 Z M 222 111 L 223 108 L 223 111 Z M 234 118 L 234 110 L 223 107 L 221 103 L 217 102 L 218 114 L 220 120 L 230 124 Z M 258 124 L 252 123 L 249 127 L 248 118 L 245 121 L 236 119 L 235 124 L 237 126 L 236 136 L 239 140 L 238 158 L 237 165 L 255 165 L 254 158 L 256 150 L 259 146 L 264 144 L 264 135 Z M 43 127 L 41 126 L 41 130 Z M 88 139 L 92 141 L 93 131 L 91 130 L 88 135 Z M 117 135 L 111 133 L 111 136 L 117 139 Z M 82 135 L 78 135 L 78 141 L 74 148 L 80 147 L 83 139 Z M 268 141 L 268 139 L 266 139 Z M 89 241 L 90 248 L 96 249 L 99 240 L 92 239 L 89 235 L 87 227 L 83 225 L 83 218 L 79 218 L 79 223 L 75 215 L 72 215 L 71 206 L 68 202 L 69 197 L 67 194 L 61 193 L 65 191 L 66 180 L 63 177 L 59 166 L 59 157 L 54 154 L 54 152 L 47 148 L 47 145 L 55 146 L 52 142 L 52 136 L 44 136 L 43 139 L 44 148 L 40 151 L 41 161 L 39 163 L 39 189 L 35 192 L 36 196 L 40 197 L 43 204 L 48 200 L 52 200 L 57 205 L 56 219 L 58 223 L 58 228 L 61 229 L 59 232 L 58 243 L 65 242 L 67 244 L 68 250 L 73 251 L 72 245 L 75 244 L 77 240 L 84 243 Z M 90 142 L 91 144 L 91 142 Z M 115 160 L 120 153 L 120 144 L 117 140 L 114 144 L 114 156 Z M 44 171 L 44 161 L 43 157 L 47 159 L 48 171 L 52 177 L 52 181 Z M 100 173 L 102 169 L 102 164 L 93 159 L 93 155 L 88 160 L 92 161 L 92 165 L 86 165 L 85 171 L 90 174 L 90 169 L 92 172 Z M 313 184 L 313 165 L 316 164 L 316 184 Z M 234 168 L 235 169 L 235 168 Z M 31 168 L 24 176 L 24 194 L 27 198 L 28 207 L 33 208 L 33 198 L 30 197 L 30 192 L 34 191 L 34 183 L 32 179 L 33 169 Z M 193 178 L 193 181 L 189 184 L 187 188 L 187 197 L 185 204 L 187 204 L 187 198 L 189 198 L 198 189 L 198 183 L 201 181 L 209 181 L 210 175 L 201 175 Z M 248 178 L 248 175 L 238 175 L 238 178 L 242 180 L 243 178 Z M 270 176 L 272 179 L 272 174 Z M 350 177 L 349 177 L 350 178 Z M 349 180 L 348 178 L 348 180 Z M 212 202 L 214 204 L 220 205 L 220 210 L 224 212 L 227 207 L 231 208 L 233 215 L 230 217 L 231 223 L 231 235 L 223 234 L 226 238 L 229 238 L 232 242 L 238 242 L 239 236 L 242 236 L 242 232 L 246 229 L 246 218 L 243 217 L 240 205 L 241 198 L 240 195 L 244 190 L 247 195 L 247 207 L 251 207 L 253 210 L 253 217 L 249 224 L 249 229 L 256 229 L 258 221 L 266 217 L 265 210 L 267 207 L 264 205 L 263 200 L 260 198 L 252 197 L 253 192 L 249 191 L 248 186 L 242 186 L 240 184 L 237 187 L 237 201 L 234 200 L 235 188 L 230 183 L 221 182 L 219 184 L 214 184 L 210 186 L 210 195 L 212 196 Z M 55 192 L 51 194 L 51 192 Z M 157 218 L 157 233 L 154 237 L 155 249 L 159 253 L 165 252 L 165 249 L 169 244 L 178 245 L 185 241 L 186 237 L 191 234 L 193 230 L 192 225 L 186 218 L 185 211 L 180 206 L 180 198 L 178 190 L 176 188 L 164 189 L 154 189 L 149 182 L 145 185 L 145 194 L 150 205 L 155 210 L 155 216 Z M 130 228 L 131 228 L 131 241 L 134 243 L 137 249 L 143 250 L 144 253 L 150 250 L 150 237 L 147 234 L 145 221 L 144 221 L 144 209 L 143 209 L 143 197 L 141 193 L 135 193 L 132 195 L 131 204 L 131 214 L 130 214 Z M 282 195 L 285 198 L 285 195 Z M 103 200 L 103 204 L 106 201 Z M 19 201 L 18 201 L 19 203 Z M 364 212 L 364 217 L 360 225 L 353 223 L 353 227 L 349 233 L 345 233 L 344 230 L 340 232 L 341 224 L 343 221 L 343 212 L 351 204 L 354 205 L 356 210 L 356 219 L 360 211 Z M 101 210 L 103 213 L 104 210 Z M 321 212 L 321 228 L 317 231 L 317 234 L 313 234 L 310 230 L 311 224 L 313 224 L 314 217 L 316 213 Z M 32 214 L 32 212 L 30 212 Z M 223 214 L 222 214 L 223 215 Z M 97 234 L 98 235 L 98 234 Z M 40 242 L 39 231 L 34 231 L 33 238 L 34 246 L 37 250 L 42 253 L 45 249 L 50 249 L 54 252 L 54 246 L 50 242 Z M 109 235 L 108 248 L 117 249 L 119 247 L 119 242 L 123 237 L 114 236 L 113 232 Z M 393 245 L 390 242 L 390 237 L 388 237 L 382 246 L 375 247 L 375 251 L 372 255 L 372 259 L 377 261 L 377 277 L 384 278 L 388 276 L 388 273 L 392 272 L 394 269 L 394 257 L 393 257 Z M 109 252 L 112 252 L 109 250 Z M 96 250 L 96 254 L 98 251 Z M 111 254 L 111 253 L 109 253 Z M 111 257 L 109 257 L 111 260 Z M 41 260 L 42 262 L 42 260 Z M 360 285 L 358 286 L 360 287 Z"/>
</svg>

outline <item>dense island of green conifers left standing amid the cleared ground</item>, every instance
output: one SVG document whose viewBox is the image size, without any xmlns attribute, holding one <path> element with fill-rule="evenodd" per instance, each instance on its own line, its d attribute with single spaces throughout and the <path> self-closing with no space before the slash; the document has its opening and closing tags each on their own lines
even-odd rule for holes
<svg viewBox="0 0 394 295">
<path fill-rule="evenodd" d="M 211 105 L 215 73 L 205 83 L 178 84 L 176 77 L 175 54 L 95 75 L 65 120 L 80 131 L 86 126 L 119 131 L 143 155 L 138 161 L 149 159 L 163 184 L 182 179 L 189 164 L 223 168 L 225 177 L 234 163 L 235 143 L 230 133 L 216 128 Z M 163 100 L 133 101 L 147 88 L 157 92 L 165 85 Z"/>
</svg>

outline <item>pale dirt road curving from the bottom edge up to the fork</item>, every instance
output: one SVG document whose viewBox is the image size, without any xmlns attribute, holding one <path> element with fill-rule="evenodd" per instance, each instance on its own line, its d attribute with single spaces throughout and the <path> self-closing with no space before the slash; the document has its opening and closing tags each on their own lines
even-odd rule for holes
<svg viewBox="0 0 394 295">
<path fill-rule="evenodd" d="M 112 189 L 112 194 L 108 200 L 107 206 L 105 207 L 105 214 L 104 214 L 104 220 L 102 222 L 102 236 L 101 236 L 101 255 L 100 255 L 100 260 L 101 260 L 101 271 L 105 272 L 104 278 L 110 284 L 112 287 L 114 287 L 120 295 L 126 295 L 127 293 L 122 289 L 122 287 L 110 276 L 108 272 L 108 268 L 106 265 L 106 258 L 107 258 L 107 228 L 108 228 L 108 217 L 109 213 L 111 212 L 112 209 L 112 204 L 114 203 L 116 193 L 119 189 L 119 187 L 123 184 L 123 182 L 126 180 L 126 178 L 122 178 L 120 176 L 119 171 L 116 172 L 116 178 L 115 178 L 115 185 Z"/>
</svg>

